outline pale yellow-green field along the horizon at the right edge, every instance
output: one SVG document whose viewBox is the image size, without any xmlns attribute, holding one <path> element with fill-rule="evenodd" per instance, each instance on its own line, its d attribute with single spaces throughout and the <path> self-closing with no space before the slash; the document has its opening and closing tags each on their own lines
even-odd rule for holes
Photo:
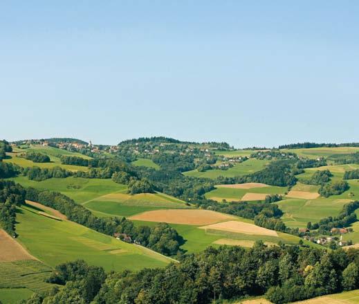
<svg viewBox="0 0 359 304">
<path fill-rule="evenodd" d="M 335 154 L 350 154 L 359 151 L 359 147 L 311 147 L 309 149 L 282 149 L 283 152 L 293 152 L 299 157 L 317 159 L 318 157 L 330 157 Z"/>
</svg>

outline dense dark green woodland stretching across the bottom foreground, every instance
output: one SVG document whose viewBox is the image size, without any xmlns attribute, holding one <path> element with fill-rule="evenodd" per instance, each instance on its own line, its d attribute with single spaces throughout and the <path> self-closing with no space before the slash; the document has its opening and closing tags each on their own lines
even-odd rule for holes
<svg viewBox="0 0 359 304">
<path fill-rule="evenodd" d="M 265 295 L 290 303 L 359 287 L 359 251 L 324 251 L 297 246 L 251 249 L 209 247 L 165 268 L 105 274 L 82 260 L 59 265 L 51 283 L 64 285 L 35 294 L 40 303 L 214 303 Z"/>
</svg>

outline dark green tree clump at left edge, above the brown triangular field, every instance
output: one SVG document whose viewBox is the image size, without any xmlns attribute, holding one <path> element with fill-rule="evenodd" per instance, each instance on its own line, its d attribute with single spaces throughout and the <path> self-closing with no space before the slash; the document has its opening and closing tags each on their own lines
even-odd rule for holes
<svg viewBox="0 0 359 304">
<path fill-rule="evenodd" d="M 25 193 L 19 184 L 0 180 L 0 226 L 12 236 L 16 236 L 16 206 L 24 204 Z"/>
</svg>

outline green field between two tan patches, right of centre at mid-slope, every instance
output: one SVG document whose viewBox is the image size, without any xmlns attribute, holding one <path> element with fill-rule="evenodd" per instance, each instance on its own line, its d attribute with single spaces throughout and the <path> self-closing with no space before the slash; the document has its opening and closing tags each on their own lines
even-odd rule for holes
<svg viewBox="0 0 359 304">
<path fill-rule="evenodd" d="M 236 189 L 236 188 L 216 188 L 205 194 L 208 199 L 221 201 L 239 201 L 246 193 L 266 193 L 266 194 L 284 194 L 288 189 L 286 187 L 269 186 L 263 188 Z"/>
</svg>

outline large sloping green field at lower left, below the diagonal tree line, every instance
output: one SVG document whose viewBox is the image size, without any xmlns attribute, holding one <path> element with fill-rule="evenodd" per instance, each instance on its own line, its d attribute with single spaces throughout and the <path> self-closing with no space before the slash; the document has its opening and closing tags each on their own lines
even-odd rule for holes
<svg viewBox="0 0 359 304">
<path fill-rule="evenodd" d="M 35 258 L 52 267 L 77 258 L 90 265 L 102 266 L 106 271 L 162 267 L 169 262 L 163 256 L 149 256 L 141 247 L 73 222 L 52 220 L 37 212 L 28 206 L 19 208 L 18 240 Z"/>
</svg>

